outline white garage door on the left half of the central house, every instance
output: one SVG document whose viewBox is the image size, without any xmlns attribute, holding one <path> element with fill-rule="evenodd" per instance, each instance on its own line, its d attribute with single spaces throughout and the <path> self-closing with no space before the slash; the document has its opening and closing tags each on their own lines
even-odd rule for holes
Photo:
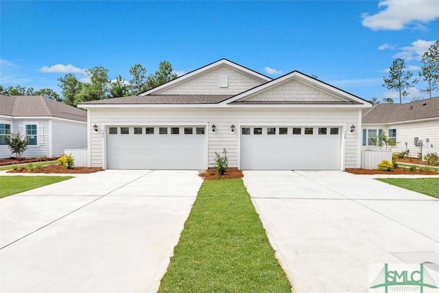
<svg viewBox="0 0 439 293">
<path fill-rule="evenodd" d="M 109 126 L 108 169 L 206 169 L 205 126 Z"/>
</svg>

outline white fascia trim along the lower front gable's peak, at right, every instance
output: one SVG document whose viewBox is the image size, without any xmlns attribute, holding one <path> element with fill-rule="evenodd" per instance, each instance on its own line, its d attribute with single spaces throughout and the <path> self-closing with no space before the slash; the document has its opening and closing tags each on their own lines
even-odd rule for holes
<svg viewBox="0 0 439 293">
<path fill-rule="evenodd" d="M 221 104 L 228 104 L 230 102 L 234 102 L 238 99 L 242 99 L 244 97 L 250 97 L 254 94 L 257 94 L 258 92 L 263 92 L 265 89 L 269 89 L 271 87 L 276 86 L 277 84 L 283 84 L 283 82 L 287 82 L 289 80 L 298 80 L 300 82 L 300 79 L 307 82 L 307 84 L 318 91 L 322 91 L 323 88 L 329 95 L 333 95 L 334 97 L 340 98 L 340 96 L 344 99 L 353 100 L 355 102 L 359 102 L 361 104 L 364 104 L 366 106 L 365 108 L 371 108 L 372 104 L 364 101 L 364 99 L 359 99 L 358 97 L 355 97 L 355 95 L 351 95 L 349 93 L 346 93 L 345 91 L 342 91 L 340 89 L 335 88 L 334 86 L 330 86 L 329 84 L 326 84 L 324 82 L 320 82 L 318 80 L 314 80 L 313 78 L 309 78 L 307 75 L 303 75 L 302 73 L 298 71 L 293 71 L 292 73 L 289 73 L 287 75 L 283 75 L 281 78 L 277 78 L 276 80 L 272 80 L 272 82 L 267 82 L 265 84 L 261 84 L 260 86 L 257 86 L 253 89 L 250 89 L 249 91 L 246 91 L 244 93 L 240 93 L 238 95 L 235 95 L 234 97 L 230 97 L 230 99 L 226 99 L 225 101 L 221 102 Z"/>
</svg>

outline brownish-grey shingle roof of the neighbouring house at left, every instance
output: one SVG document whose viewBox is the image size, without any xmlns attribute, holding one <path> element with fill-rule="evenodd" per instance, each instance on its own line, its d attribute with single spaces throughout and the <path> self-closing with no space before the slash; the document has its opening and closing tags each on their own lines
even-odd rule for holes
<svg viewBox="0 0 439 293">
<path fill-rule="evenodd" d="M 42 95 L 0 95 L 0 115 L 16 117 L 58 117 L 87 121 L 84 110 L 47 99 Z"/>
</svg>

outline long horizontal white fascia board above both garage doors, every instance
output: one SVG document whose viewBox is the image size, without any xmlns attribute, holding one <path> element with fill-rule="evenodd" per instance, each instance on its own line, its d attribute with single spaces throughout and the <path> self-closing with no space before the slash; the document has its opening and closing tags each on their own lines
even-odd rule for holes
<svg viewBox="0 0 439 293">
<path fill-rule="evenodd" d="M 129 108 L 150 108 L 150 109 L 176 109 L 176 108 L 369 108 L 367 104 L 86 104 L 81 108 L 85 109 L 129 109 Z"/>
</svg>

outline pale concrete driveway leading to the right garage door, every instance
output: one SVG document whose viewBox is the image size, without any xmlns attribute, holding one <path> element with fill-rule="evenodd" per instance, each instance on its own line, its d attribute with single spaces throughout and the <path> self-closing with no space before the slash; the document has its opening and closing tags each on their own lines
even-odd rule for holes
<svg viewBox="0 0 439 293">
<path fill-rule="evenodd" d="M 244 174 L 297 293 L 368 292 L 372 263 L 439 263 L 439 200 L 345 172 Z"/>
</svg>

